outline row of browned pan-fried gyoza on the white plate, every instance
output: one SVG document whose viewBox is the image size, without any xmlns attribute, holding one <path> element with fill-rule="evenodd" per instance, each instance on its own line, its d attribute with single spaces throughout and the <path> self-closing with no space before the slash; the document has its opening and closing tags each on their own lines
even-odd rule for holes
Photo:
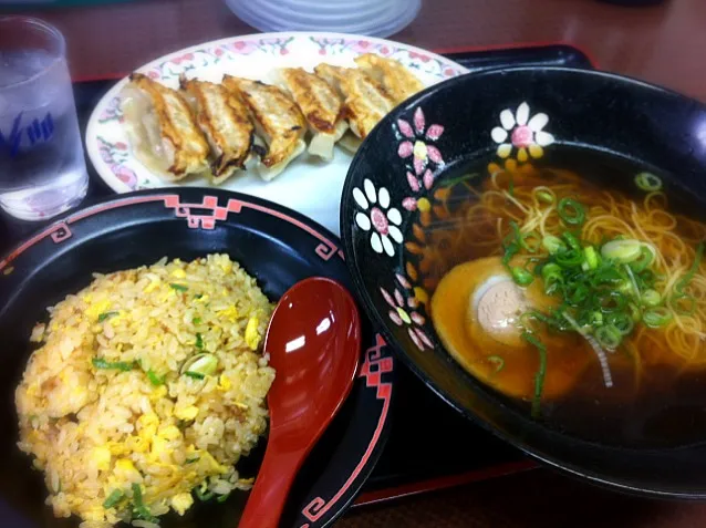
<svg viewBox="0 0 706 528">
<path fill-rule="evenodd" d="M 399 62 L 374 54 L 357 68 L 284 68 L 277 85 L 225 75 L 181 76 L 173 90 L 135 73 L 122 92 L 135 157 L 167 182 L 207 175 L 218 185 L 257 166 L 270 180 L 307 149 L 324 161 L 355 152 L 397 104 L 424 87 Z"/>
</svg>

